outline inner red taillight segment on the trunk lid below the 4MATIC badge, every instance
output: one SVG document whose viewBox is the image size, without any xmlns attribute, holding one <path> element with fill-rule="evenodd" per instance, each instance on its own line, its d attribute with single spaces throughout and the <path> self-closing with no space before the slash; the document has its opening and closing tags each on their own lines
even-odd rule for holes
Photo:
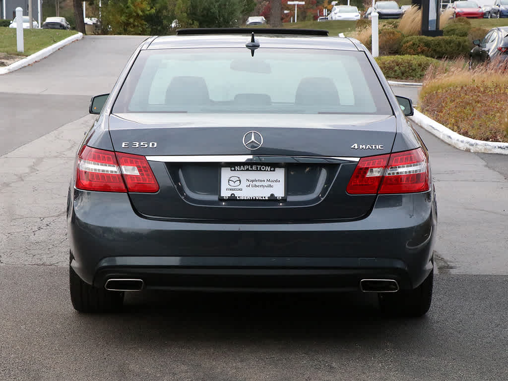
<svg viewBox="0 0 508 381">
<path fill-rule="evenodd" d="M 349 194 L 376 194 L 390 155 L 363 157 L 347 184 Z"/>
</svg>

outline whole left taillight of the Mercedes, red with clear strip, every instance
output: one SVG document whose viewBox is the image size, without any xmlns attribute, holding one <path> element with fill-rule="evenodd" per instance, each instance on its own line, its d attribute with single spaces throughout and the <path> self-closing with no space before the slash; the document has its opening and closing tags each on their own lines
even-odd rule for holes
<svg viewBox="0 0 508 381">
<path fill-rule="evenodd" d="M 76 188 L 102 192 L 157 192 L 158 184 L 144 156 L 123 153 L 115 156 L 111 151 L 83 146 L 78 153 Z"/>
</svg>

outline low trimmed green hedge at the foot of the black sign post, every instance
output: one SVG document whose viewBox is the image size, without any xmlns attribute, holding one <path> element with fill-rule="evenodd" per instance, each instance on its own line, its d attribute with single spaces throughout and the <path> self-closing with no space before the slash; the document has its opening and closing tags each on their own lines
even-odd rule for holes
<svg viewBox="0 0 508 381">
<path fill-rule="evenodd" d="M 410 36 L 402 40 L 401 54 L 418 54 L 432 58 L 457 58 L 471 50 L 467 37 Z"/>
</svg>

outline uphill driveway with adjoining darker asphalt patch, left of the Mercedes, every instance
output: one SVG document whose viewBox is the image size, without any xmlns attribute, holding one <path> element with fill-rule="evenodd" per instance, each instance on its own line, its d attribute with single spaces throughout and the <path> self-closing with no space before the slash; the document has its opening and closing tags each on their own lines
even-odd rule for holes
<svg viewBox="0 0 508 381">
<path fill-rule="evenodd" d="M 0 75 L 0 155 L 88 115 L 90 97 L 111 90 L 145 39 L 85 36 L 40 62 Z"/>
</svg>

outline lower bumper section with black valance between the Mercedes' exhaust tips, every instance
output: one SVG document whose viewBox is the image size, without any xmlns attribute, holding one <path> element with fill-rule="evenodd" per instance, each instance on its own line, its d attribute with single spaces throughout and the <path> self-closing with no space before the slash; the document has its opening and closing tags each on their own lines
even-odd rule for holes
<svg viewBox="0 0 508 381">
<path fill-rule="evenodd" d="M 98 264 L 93 284 L 133 278 L 147 289 L 168 290 L 356 291 L 362 279 L 412 288 L 407 265 L 392 258 L 109 257 Z"/>
</svg>

